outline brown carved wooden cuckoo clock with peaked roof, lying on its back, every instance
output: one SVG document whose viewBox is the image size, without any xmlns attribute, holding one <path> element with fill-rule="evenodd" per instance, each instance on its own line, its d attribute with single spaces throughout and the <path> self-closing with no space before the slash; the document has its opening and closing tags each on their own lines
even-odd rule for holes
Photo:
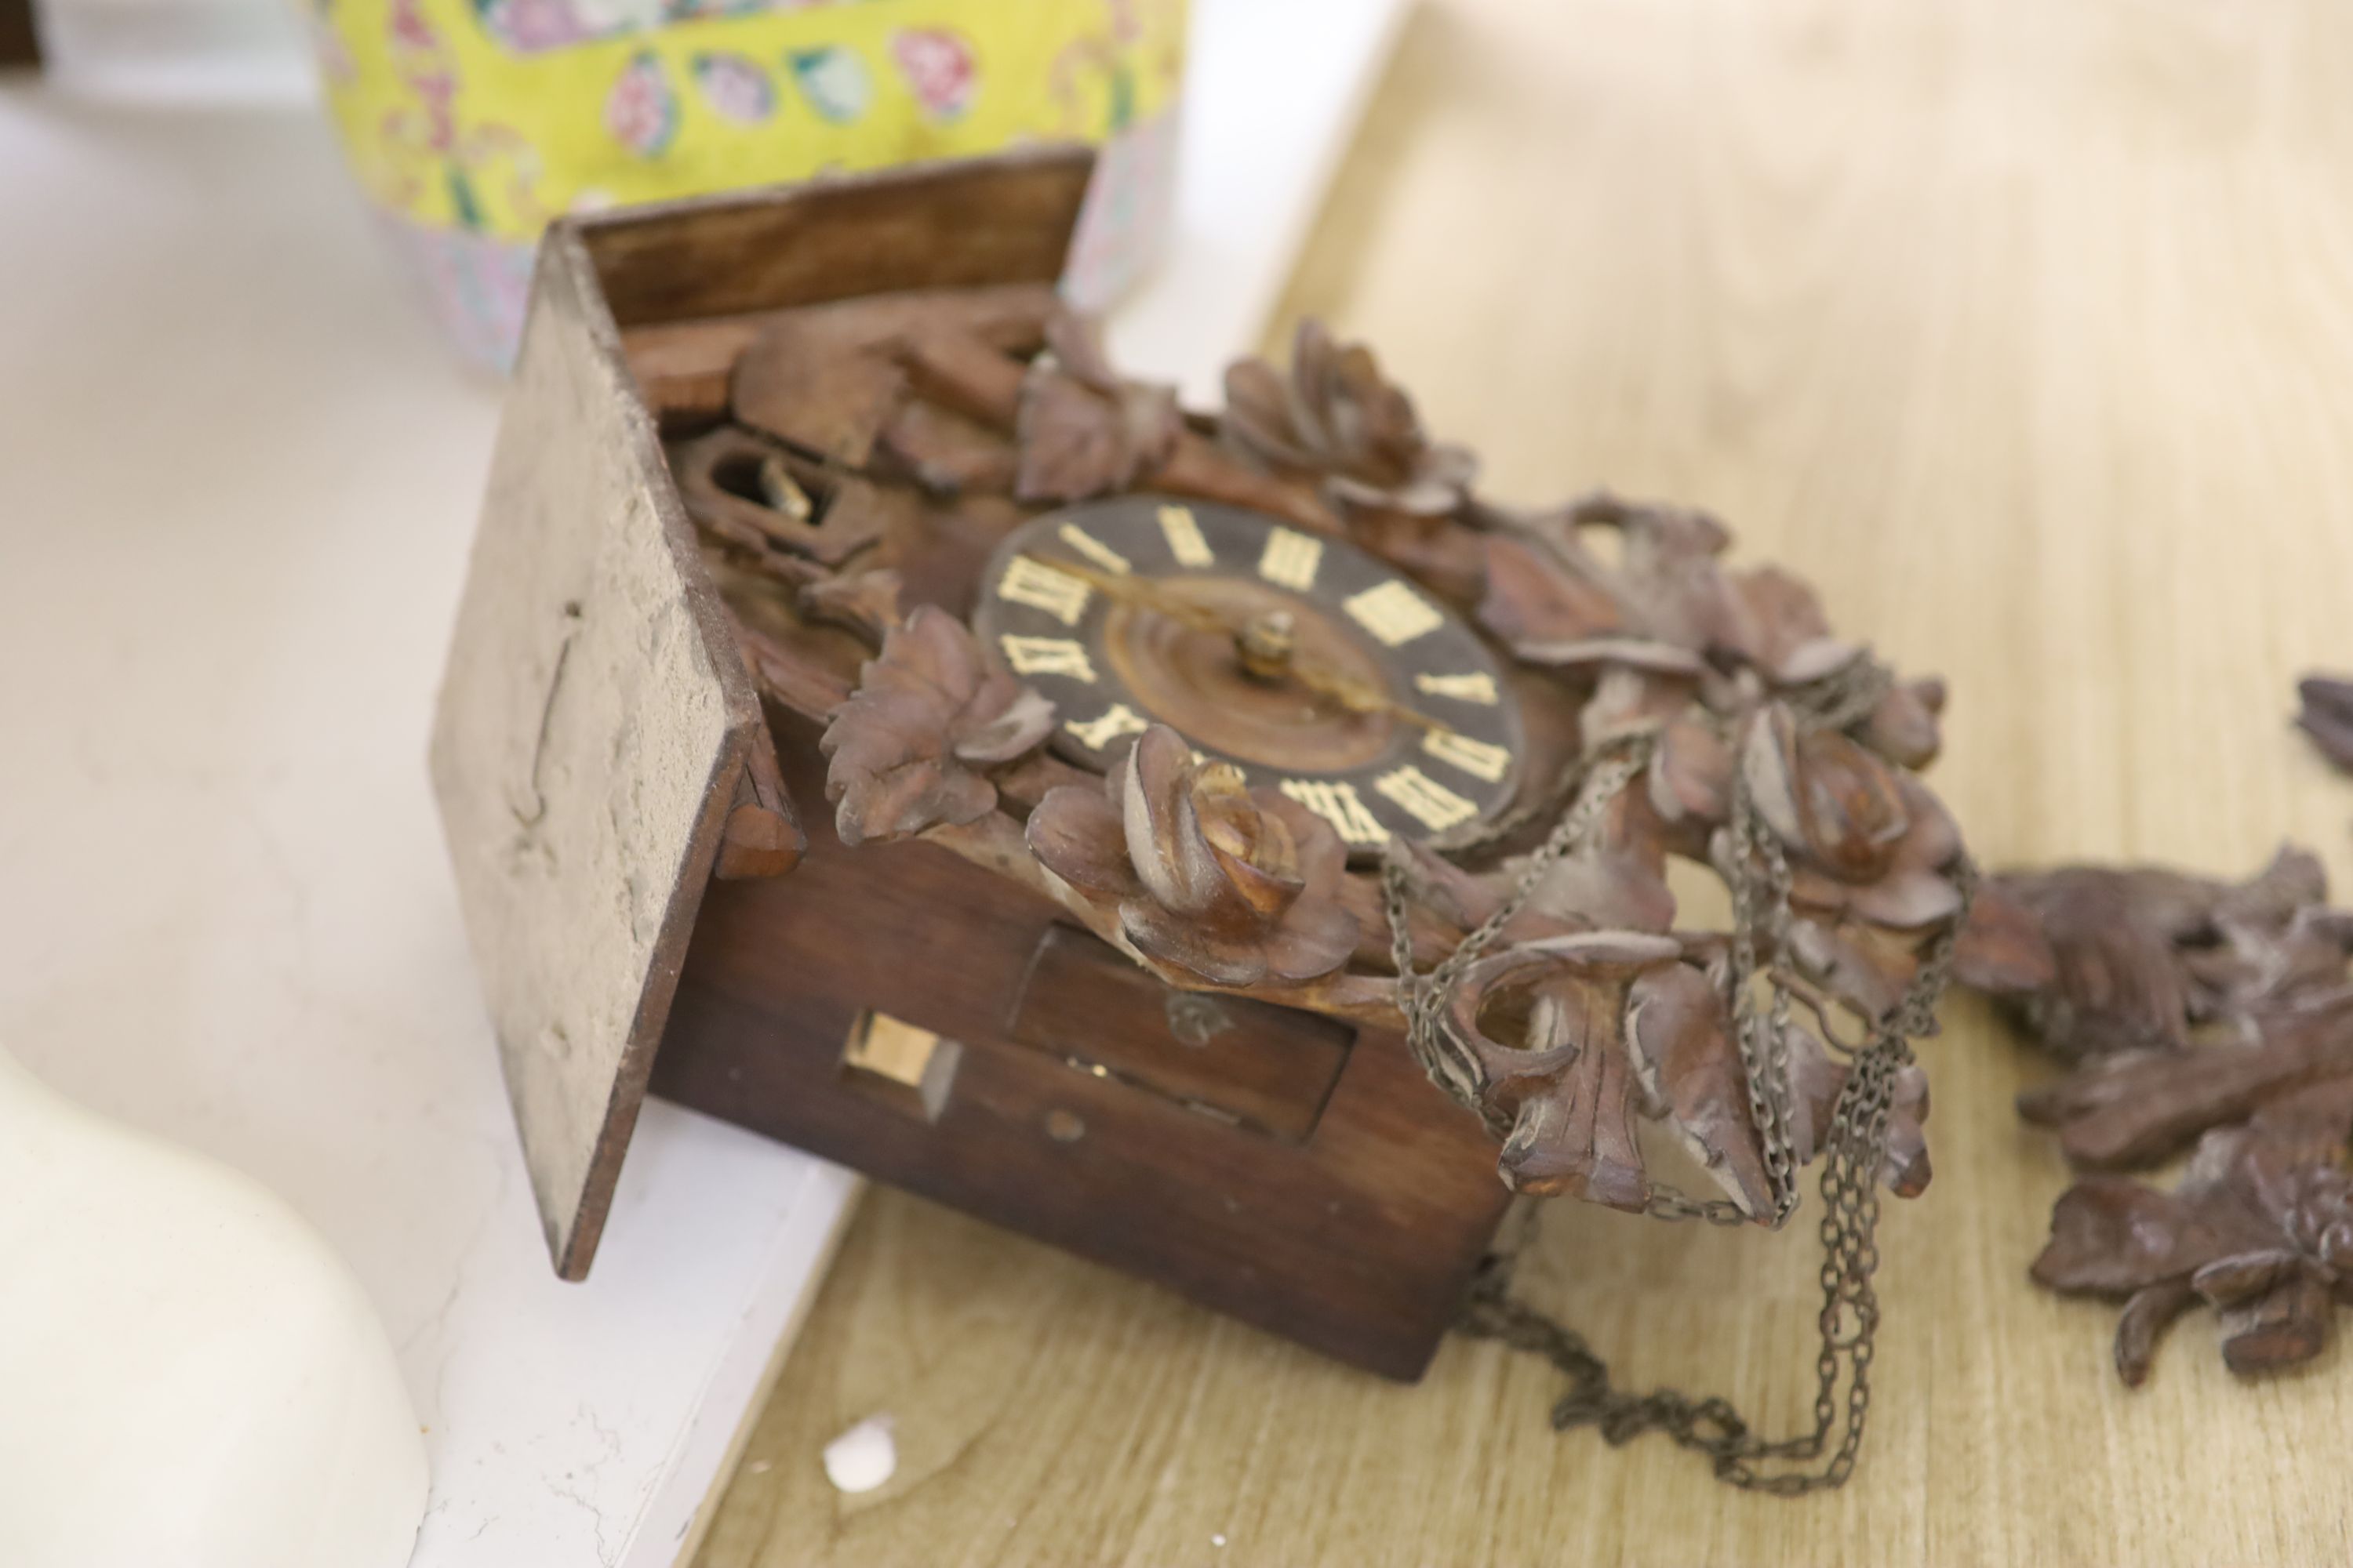
<svg viewBox="0 0 2353 1568">
<path fill-rule="evenodd" d="M 1701 512 L 1489 501 L 1313 324 L 1125 378 L 1085 176 L 548 240 L 435 778 L 560 1265 L 649 1081 L 1402 1378 L 1513 1192 L 1777 1225 L 1821 1157 L 1868 1316 L 1941 689 Z"/>
</svg>

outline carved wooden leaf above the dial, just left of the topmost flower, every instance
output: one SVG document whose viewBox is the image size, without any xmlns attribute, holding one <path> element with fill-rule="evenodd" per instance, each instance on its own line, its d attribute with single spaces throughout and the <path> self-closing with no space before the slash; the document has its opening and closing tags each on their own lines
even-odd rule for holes
<svg viewBox="0 0 2353 1568">
<path fill-rule="evenodd" d="M 1104 357 L 1094 322 L 1059 310 L 1047 350 L 1021 381 L 1014 437 L 1021 501 L 1087 501 L 1129 489 L 1176 451 L 1176 390 L 1122 381 Z"/>
</svg>

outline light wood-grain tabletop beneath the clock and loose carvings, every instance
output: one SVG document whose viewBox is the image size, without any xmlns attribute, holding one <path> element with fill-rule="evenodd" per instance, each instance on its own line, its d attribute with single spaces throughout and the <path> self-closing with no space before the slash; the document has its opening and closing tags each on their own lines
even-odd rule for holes
<svg viewBox="0 0 2353 1568">
<path fill-rule="evenodd" d="M 2353 783 L 2285 715 L 2353 665 L 2348 153 L 2341 0 L 1445 0 L 1292 306 L 1499 494 L 1715 508 L 1951 675 L 1934 783 L 1984 860 L 2297 837 L 2344 879 Z M 2346 1354 L 2240 1387 L 2193 1316 L 2118 1387 L 2111 1309 L 2024 1279 L 2064 1185 L 2009 1112 L 2040 1067 L 1946 1020 L 1845 1493 L 1555 1436 L 1497 1347 L 1391 1387 L 878 1192 L 701 1561 L 2346 1561 Z M 1814 1267 L 1809 1227 L 1560 1206 L 1525 1274 L 1628 1378 L 1786 1427 Z M 899 1474 L 842 1497 L 819 1450 L 878 1410 Z"/>
</svg>

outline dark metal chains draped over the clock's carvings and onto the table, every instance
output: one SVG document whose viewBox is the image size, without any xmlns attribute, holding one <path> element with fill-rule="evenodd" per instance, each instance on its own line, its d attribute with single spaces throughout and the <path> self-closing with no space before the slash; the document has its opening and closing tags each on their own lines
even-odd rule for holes
<svg viewBox="0 0 2353 1568">
<path fill-rule="evenodd" d="M 1802 722 L 1809 729 L 1847 729 L 1878 705 L 1887 684 L 1882 665 L 1857 656 L 1802 693 Z M 1468 1051 L 1452 1041 L 1442 1027 L 1452 987 L 1504 924 L 1525 907 L 1544 875 L 1565 853 L 1586 844 L 1609 799 L 1640 773 L 1647 759 L 1647 738 L 1628 738 L 1605 748 L 1584 769 L 1577 802 L 1522 867 L 1511 898 L 1426 976 L 1414 971 L 1412 936 L 1405 924 L 1412 879 L 1395 856 L 1386 863 L 1384 893 L 1407 1041 L 1424 1070 L 1457 1100 L 1478 1105 L 1478 1070 Z M 1788 990 L 1774 978 L 1786 961 L 1791 877 L 1774 835 L 1760 832 L 1755 802 L 1748 799 L 1739 766 L 1734 766 L 1729 849 L 1734 933 L 1727 1001 L 1741 1067 L 1748 1077 L 1748 1107 L 1765 1145 L 1774 1194 L 1772 1222 L 1779 1227 L 1798 1204 Z M 1774 1497 L 1800 1497 L 1819 1488 L 1845 1486 L 1847 1476 L 1854 1474 L 1854 1458 L 1861 1450 L 1871 1413 L 1871 1359 L 1880 1326 L 1880 1302 L 1873 1286 L 1880 1265 L 1880 1171 L 1887 1161 L 1887 1121 L 1894 1107 L 1897 1074 L 1913 1063 L 1911 1041 L 1934 1030 L 1937 1001 L 1944 997 L 1953 966 L 1953 945 L 1977 896 L 1977 867 L 1967 856 L 1958 856 L 1948 875 L 1960 889 L 1960 907 L 1929 940 L 1897 1009 L 1873 1023 L 1871 1039 L 1847 1070 L 1821 1147 L 1821 1342 L 1814 1356 L 1812 1429 L 1786 1439 L 1765 1439 L 1751 1432 L 1748 1420 L 1727 1399 L 1692 1399 L 1678 1389 L 1628 1394 L 1612 1387 L 1607 1361 L 1593 1354 L 1579 1333 L 1511 1293 L 1520 1248 L 1494 1253 L 1480 1267 L 1457 1326 L 1473 1338 L 1501 1340 L 1513 1349 L 1544 1356 L 1567 1375 L 1569 1389 L 1553 1403 L 1555 1429 L 1598 1427 L 1602 1441 L 1612 1446 L 1628 1443 L 1645 1432 L 1664 1432 L 1678 1446 L 1708 1455 L 1718 1481 Z M 1762 971 L 1772 1001 L 1762 1013 L 1755 1006 L 1760 936 L 1772 947 L 1772 964 Z M 1699 1201 L 1664 1185 L 1654 1187 L 1647 1213 L 1664 1220 L 1718 1225 L 1746 1220 L 1727 1199 Z M 1845 1385 L 1845 1401 L 1838 1399 L 1840 1385 Z M 1842 1422 L 1840 1403 L 1845 1403 Z M 1838 1429 L 1835 1448 L 1831 1448 L 1833 1429 Z M 1819 1469 L 1772 1469 L 1817 1460 Z"/>
</svg>

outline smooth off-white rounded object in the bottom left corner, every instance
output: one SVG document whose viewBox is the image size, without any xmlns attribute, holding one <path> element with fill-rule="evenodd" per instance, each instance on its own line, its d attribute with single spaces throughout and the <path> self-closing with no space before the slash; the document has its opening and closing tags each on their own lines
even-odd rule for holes
<svg viewBox="0 0 2353 1568">
<path fill-rule="evenodd" d="M 0 1563 L 400 1568 L 424 1505 L 393 1349 L 325 1241 L 0 1051 Z"/>
</svg>

